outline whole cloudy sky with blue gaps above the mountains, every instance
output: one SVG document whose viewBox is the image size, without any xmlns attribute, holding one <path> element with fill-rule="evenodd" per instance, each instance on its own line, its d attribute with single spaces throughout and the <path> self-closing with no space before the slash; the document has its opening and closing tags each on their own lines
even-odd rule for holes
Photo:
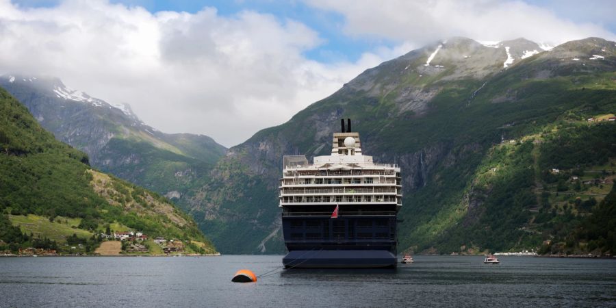
<svg viewBox="0 0 616 308">
<path fill-rule="evenodd" d="M 233 146 L 425 44 L 616 40 L 614 16 L 611 0 L 0 0 L 0 73 Z"/>
</svg>

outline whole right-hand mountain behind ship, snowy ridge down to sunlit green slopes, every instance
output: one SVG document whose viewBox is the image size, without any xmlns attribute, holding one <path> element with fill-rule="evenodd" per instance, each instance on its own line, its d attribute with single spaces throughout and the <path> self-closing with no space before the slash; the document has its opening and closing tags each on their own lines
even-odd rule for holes
<svg viewBox="0 0 616 308">
<path fill-rule="evenodd" d="M 613 125 L 589 127 L 586 119 L 616 112 L 615 71 L 615 42 L 601 38 L 549 51 L 522 38 L 435 42 L 365 70 L 287 123 L 229 149 L 187 209 L 223 252 L 282 252 L 283 155 L 329 153 L 339 118 L 352 118 L 363 153 L 402 168 L 401 248 L 479 253 L 559 242 L 592 215 L 572 209 L 576 198 L 600 201 L 612 185 L 608 177 L 595 193 L 592 185 L 556 187 L 569 185 L 564 177 L 574 170 L 585 177 L 601 166 L 613 170 Z M 559 162 L 550 151 L 565 150 L 589 156 L 554 182 L 548 171 Z"/>
</svg>

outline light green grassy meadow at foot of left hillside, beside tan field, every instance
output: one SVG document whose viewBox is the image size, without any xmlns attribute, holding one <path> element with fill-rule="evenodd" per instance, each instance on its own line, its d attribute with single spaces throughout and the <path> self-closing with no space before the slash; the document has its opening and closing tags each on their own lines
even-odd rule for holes
<svg viewBox="0 0 616 308">
<path fill-rule="evenodd" d="M 33 233 L 34 236 L 46 237 L 57 242 L 66 242 L 66 238 L 73 234 L 77 234 L 79 238 L 90 238 L 92 236 L 89 231 L 77 229 L 79 218 L 57 217 L 54 222 L 49 222 L 47 217 L 32 214 L 28 216 L 9 215 L 9 218 L 23 233 Z"/>
</svg>

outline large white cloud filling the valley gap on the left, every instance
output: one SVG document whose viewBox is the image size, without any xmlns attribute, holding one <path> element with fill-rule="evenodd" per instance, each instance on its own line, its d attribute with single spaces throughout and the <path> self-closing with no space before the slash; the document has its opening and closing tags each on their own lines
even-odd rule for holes
<svg viewBox="0 0 616 308">
<path fill-rule="evenodd" d="M 386 51 L 325 66 L 322 43 L 293 20 L 244 11 L 157 12 L 107 1 L 20 8 L 0 0 L 0 70 L 61 77 L 110 103 L 129 103 L 166 132 L 232 146 L 337 90 Z M 385 53 L 384 53 L 385 52 Z"/>
</svg>

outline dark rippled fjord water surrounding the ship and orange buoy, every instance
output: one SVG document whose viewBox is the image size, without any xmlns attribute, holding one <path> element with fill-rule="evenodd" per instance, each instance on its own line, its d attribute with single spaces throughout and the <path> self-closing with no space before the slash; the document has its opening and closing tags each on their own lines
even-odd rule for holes
<svg viewBox="0 0 616 308">
<path fill-rule="evenodd" d="M 396 270 L 277 270 L 282 256 L 0 258 L 0 306 L 616 305 L 616 260 L 415 256 Z M 257 283 L 232 283 L 253 270 Z"/>
</svg>

